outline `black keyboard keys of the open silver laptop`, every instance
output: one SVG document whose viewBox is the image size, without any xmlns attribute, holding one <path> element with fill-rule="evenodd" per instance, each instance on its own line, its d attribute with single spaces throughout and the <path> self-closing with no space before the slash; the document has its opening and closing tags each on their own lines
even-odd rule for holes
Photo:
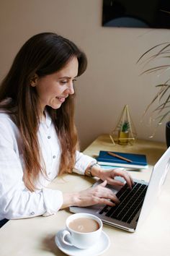
<svg viewBox="0 0 170 256">
<path fill-rule="evenodd" d="M 125 184 L 116 194 L 120 203 L 112 207 L 104 206 L 99 214 L 130 223 L 143 205 L 147 188 L 148 185 L 137 182 L 135 182 L 132 189 Z"/>
</svg>

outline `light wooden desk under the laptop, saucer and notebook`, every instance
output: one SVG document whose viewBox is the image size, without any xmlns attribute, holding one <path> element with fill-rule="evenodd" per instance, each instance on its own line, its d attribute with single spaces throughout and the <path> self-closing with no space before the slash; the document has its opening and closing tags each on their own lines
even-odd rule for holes
<svg viewBox="0 0 170 256">
<path fill-rule="evenodd" d="M 149 168 L 131 171 L 136 179 L 146 179 L 151 175 L 151 166 L 166 150 L 161 142 L 138 140 L 133 146 L 113 146 L 108 135 L 97 138 L 84 153 L 98 155 L 99 150 L 115 150 L 145 153 Z M 89 187 L 93 179 L 76 174 L 55 179 L 50 187 L 63 192 L 76 191 Z M 110 247 L 105 256 L 169 256 L 170 255 L 170 173 L 150 216 L 137 232 L 131 234 L 104 224 L 104 231 L 109 235 Z M 1 256 L 63 256 L 55 246 L 54 236 L 63 229 L 68 210 L 60 210 L 55 216 L 35 217 L 13 220 L 0 229 Z"/>
</svg>

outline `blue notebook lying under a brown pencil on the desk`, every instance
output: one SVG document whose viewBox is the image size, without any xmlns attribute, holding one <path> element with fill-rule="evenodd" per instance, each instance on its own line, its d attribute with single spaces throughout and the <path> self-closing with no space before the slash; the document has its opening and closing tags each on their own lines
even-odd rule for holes
<svg viewBox="0 0 170 256">
<path fill-rule="evenodd" d="M 110 155 L 110 153 L 120 156 L 121 159 L 116 156 Z M 135 153 L 122 153 L 122 152 L 107 152 L 100 150 L 97 157 L 97 163 L 102 166 L 117 166 L 125 168 L 148 168 L 146 155 Z"/>
</svg>

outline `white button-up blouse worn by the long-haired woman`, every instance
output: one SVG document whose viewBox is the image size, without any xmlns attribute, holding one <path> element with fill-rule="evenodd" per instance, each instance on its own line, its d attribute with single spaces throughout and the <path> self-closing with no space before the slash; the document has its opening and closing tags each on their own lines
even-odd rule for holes
<svg viewBox="0 0 170 256">
<path fill-rule="evenodd" d="M 42 150 L 48 179 L 40 174 L 37 190 L 30 192 L 23 182 L 22 140 L 19 129 L 8 114 L 0 113 L 0 221 L 3 218 L 29 218 L 55 214 L 63 204 L 59 190 L 48 189 L 48 184 L 58 175 L 61 148 L 55 127 L 46 116 L 40 122 L 38 140 Z M 84 174 L 94 158 L 76 151 L 76 172 Z"/>
</svg>

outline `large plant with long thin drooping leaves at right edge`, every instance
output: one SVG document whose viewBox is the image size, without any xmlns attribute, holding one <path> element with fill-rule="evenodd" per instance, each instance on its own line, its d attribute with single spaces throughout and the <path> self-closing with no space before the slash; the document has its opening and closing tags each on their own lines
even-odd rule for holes
<svg viewBox="0 0 170 256">
<path fill-rule="evenodd" d="M 170 43 L 160 43 L 148 49 L 148 51 L 140 56 L 138 63 L 141 63 L 141 61 L 146 63 L 147 61 L 147 64 L 150 64 L 160 59 L 161 61 L 164 61 L 164 64 L 146 69 L 142 74 L 161 72 L 161 74 L 165 74 L 166 76 L 170 69 Z M 156 88 L 158 88 L 158 93 L 156 93 L 156 95 L 153 97 L 151 103 L 148 104 L 145 114 L 149 111 L 150 107 L 153 106 L 153 103 L 158 102 L 158 106 L 153 109 L 152 114 L 156 117 L 155 119 L 157 120 L 157 125 L 160 125 L 170 116 L 170 74 L 168 78 L 164 78 L 164 82 L 156 85 Z M 167 147 L 170 145 L 170 121 L 166 122 L 166 145 Z"/>
</svg>

